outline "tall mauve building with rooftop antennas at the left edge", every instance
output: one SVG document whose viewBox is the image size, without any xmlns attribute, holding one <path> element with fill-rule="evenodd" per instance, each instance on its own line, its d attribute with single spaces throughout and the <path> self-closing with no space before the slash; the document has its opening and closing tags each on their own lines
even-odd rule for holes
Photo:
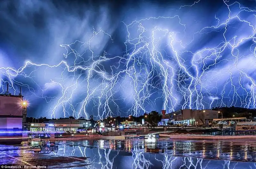
<svg viewBox="0 0 256 169">
<path fill-rule="evenodd" d="M 26 116 L 27 103 L 23 101 L 21 89 L 19 95 L 12 95 L 7 85 L 7 92 L 0 94 L 0 130 L 21 131 L 25 127 Z"/>
</svg>

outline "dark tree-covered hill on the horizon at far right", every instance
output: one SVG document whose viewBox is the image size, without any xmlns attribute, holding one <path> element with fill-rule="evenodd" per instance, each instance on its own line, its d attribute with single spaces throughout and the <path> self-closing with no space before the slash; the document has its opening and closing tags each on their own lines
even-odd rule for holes
<svg viewBox="0 0 256 169">
<path fill-rule="evenodd" d="M 223 118 L 246 117 L 251 119 L 256 117 L 256 109 L 249 109 L 244 107 L 213 107 L 212 110 L 222 112 Z"/>
</svg>

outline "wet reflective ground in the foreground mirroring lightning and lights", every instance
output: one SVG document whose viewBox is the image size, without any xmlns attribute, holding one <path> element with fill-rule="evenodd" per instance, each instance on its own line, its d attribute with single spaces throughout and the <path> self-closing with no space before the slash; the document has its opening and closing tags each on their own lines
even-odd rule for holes
<svg viewBox="0 0 256 169">
<path fill-rule="evenodd" d="M 256 168 L 254 140 L 83 140 L 0 145 L 0 164 L 49 168 Z M 231 160 L 231 161 L 230 161 Z M 246 162 L 242 162 L 246 161 Z"/>
</svg>

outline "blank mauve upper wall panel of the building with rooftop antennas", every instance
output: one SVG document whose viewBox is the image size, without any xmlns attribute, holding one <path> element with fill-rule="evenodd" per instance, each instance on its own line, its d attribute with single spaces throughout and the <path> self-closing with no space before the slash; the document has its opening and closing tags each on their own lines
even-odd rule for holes
<svg viewBox="0 0 256 169">
<path fill-rule="evenodd" d="M 22 116 L 22 98 L 0 96 L 0 116 Z"/>
</svg>

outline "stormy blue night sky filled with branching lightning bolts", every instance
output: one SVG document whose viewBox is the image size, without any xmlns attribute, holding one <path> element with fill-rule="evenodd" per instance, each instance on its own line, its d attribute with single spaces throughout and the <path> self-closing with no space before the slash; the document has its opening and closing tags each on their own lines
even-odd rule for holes
<svg viewBox="0 0 256 169">
<path fill-rule="evenodd" d="M 1 1 L 1 92 L 28 116 L 256 108 L 256 2 Z"/>
</svg>

